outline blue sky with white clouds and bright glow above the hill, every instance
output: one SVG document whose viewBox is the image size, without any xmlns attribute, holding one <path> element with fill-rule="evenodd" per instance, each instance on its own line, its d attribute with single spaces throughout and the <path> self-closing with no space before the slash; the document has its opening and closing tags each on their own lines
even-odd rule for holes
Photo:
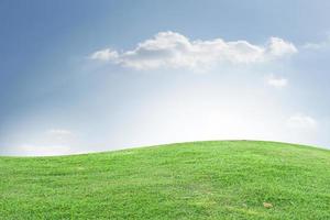
<svg viewBox="0 0 330 220">
<path fill-rule="evenodd" d="M 1 1 L 0 154 L 330 146 L 329 1 Z"/>
</svg>

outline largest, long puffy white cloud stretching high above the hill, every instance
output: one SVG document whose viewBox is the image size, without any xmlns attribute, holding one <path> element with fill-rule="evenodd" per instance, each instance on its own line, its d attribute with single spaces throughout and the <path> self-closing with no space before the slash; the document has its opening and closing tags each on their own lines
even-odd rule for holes
<svg viewBox="0 0 330 220">
<path fill-rule="evenodd" d="M 293 43 L 278 37 L 271 37 L 265 45 L 254 45 L 248 41 L 226 42 L 222 38 L 190 41 L 179 33 L 168 31 L 139 43 L 131 51 L 105 48 L 89 57 L 133 69 L 205 69 L 221 64 L 272 62 L 297 52 Z"/>
</svg>

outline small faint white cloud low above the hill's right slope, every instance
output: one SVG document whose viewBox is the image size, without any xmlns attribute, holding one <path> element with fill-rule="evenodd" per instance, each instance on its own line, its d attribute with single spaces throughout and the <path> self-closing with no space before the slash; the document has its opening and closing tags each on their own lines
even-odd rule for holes
<svg viewBox="0 0 330 220">
<path fill-rule="evenodd" d="M 315 129 L 317 121 L 304 113 L 296 113 L 287 120 L 287 127 L 290 129 Z"/>
</svg>

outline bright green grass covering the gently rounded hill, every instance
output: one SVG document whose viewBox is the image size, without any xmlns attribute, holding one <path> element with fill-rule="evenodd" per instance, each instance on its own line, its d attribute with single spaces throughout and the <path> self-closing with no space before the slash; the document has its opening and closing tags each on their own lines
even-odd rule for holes
<svg viewBox="0 0 330 220">
<path fill-rule="evenodd" d="M 330 151 L 223 141 L 0 157 L 0 219 L 330 219 Z"/>
</svg>

